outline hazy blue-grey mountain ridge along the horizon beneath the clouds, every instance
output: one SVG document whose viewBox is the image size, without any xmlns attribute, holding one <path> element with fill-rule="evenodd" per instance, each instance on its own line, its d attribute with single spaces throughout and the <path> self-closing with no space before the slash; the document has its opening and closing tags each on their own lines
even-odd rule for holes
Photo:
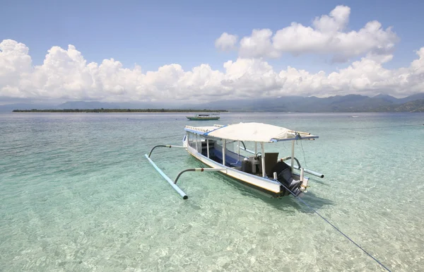
<svg viewBox="0 0 424 272">
<path fill-rule="evenodd" d="M 424 112 L 424 93 L 396 98 L 390 95 L 336 95 L 331 97 L 284 96 L 246 100 L 219 100 L 203 104 L 177 105 L 175 102 L 98 102 L 70 101 L 60 105 L 0 105 L 0 112 L 12 110 L 68 109 L 193 109 L 229 110 L 231 112 Z"/>
</svg>

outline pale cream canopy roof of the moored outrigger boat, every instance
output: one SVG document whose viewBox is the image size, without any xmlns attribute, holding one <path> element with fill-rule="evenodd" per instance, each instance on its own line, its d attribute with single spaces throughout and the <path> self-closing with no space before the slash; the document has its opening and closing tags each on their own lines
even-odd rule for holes
<svg viewBox="0 0 424 272">
<path fill-rule="evenodd" d="M 263 123 L 239 123 L 225 126 L 217 124 L 213 126 L 186 126 L 184 130 L 213 138 L 261 143 L 318 138 L 318 136 L 311 135 L 307 132 L 293 131 L 282 126 Z"/>
</svg>

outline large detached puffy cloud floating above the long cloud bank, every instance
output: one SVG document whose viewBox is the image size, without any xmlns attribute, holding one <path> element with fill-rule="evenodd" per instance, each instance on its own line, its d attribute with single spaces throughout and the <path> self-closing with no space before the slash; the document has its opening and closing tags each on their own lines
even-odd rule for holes
<svg viewBox="0 0 424 272">
<path fill-rule="evenodd" d="M 348 61 L 351 57 L 373 54 L 390 54 L 399 41 L 391 28 L 383 29 L 377 20 L 370 21 L 360 30 L 347 31 L 351 8 L 336 6 L 329 15 L 315 18 L 312 26 L 300 23 L 277 30 L 253 30 L 242 37 L 240 57 L 278 58 L 283 53 L 328 54 L 333 61 Z M 223 36 L 221 36 L 223 37 Z"/>
</svg>

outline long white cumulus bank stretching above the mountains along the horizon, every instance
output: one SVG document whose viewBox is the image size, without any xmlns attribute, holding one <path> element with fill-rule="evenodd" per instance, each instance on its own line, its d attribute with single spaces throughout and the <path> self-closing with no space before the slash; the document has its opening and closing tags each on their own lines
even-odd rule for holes
<svg viewBox="0 0 424 272">
<path fill-rule="evenodd" d="M 334 17 L 334 16 L 333 16 Z M 343 16 L 337 20 L 345 22 Z M 324 28 L 324 26 L 323 26 Z M 326 23 L 326 29 L 336 28 Z M 258 34 L 266 37 L 266 33 Z M 391 54 L 368 52 L 346 69 L 310 73 L 288 67 L 275 71 L 263 59 L 239 58 L 223 64 L 223 71 L 201 64 L 184 71 L 179 64 L 143 72 L 127 69 L 114 59 L 100 64 L 86 61 L 76 47 L 52 47 L 44 62 L 33 66 L 28 47 L 14 40 L 0 43 L 0 102 L 11 98 L 33 100 L 216 100 L 279 95 L 362 94 L 411 95 L 424 90 L 424 47 L 418 58 L 401 69 L 385 69 Z"/>
</svg>

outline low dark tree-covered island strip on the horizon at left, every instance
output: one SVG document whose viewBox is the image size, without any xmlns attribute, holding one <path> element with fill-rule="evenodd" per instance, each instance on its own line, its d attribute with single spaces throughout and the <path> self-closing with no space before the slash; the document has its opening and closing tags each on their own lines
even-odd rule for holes
<svg viewBox="0 0 424 272">
<path fill-rule="evenodd" d="M 227 110 L 168 110 L 168 109 L 66 109 L 66 110 L 13 110 L 12 112 L 228 112 Z"/>
</svg>

